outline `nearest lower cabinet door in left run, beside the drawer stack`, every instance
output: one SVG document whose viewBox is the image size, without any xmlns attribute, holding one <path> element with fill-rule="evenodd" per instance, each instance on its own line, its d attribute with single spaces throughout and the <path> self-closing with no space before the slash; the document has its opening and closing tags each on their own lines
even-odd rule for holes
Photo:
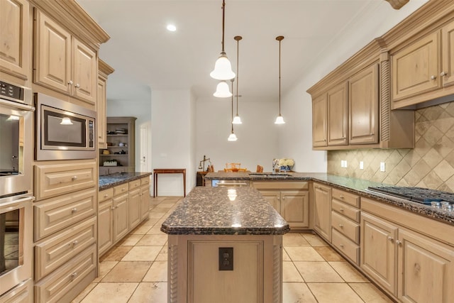
<svg viewBox="0 0 454 303">
<path fill-rule="evenodd" d="M 98 209 L 98 250 L 99 255 L 106 252 L 114 244 L 114 202 L 112 199 L 99 204 Z"/>
</svg>

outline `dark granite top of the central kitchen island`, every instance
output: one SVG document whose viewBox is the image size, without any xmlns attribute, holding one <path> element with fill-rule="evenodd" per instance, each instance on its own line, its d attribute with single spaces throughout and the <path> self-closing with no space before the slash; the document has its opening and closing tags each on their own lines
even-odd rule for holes
<svg viewBox="0 0 454 303">
<path fill-rule="evenodd" d="M 289 230 L 252 187 L 195 187 L 161 226 L 172 235 L 282 235 Z"/>
</svg>

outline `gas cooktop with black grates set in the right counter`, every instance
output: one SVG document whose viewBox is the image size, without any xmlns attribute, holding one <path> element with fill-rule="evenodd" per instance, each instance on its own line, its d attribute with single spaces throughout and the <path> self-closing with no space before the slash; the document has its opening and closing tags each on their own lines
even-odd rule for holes
<svg viewBox="0 0 454 303">
<path fill-rule="evenodd" d="M 422 204 L 431 204 L 431 202 L 447 201 L 454 204 L 454 194 L 450 192 L 442 192 L 435 189 L 427 189 L 422 187 L 368 187 L 371 192 L 387 194 L 392 197 L 398 197 L 413 202 Z"/>
</svg>

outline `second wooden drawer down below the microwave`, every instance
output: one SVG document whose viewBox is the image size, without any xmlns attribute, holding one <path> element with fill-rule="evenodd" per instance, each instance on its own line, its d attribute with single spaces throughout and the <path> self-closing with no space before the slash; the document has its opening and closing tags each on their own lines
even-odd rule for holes
<svg viewBox="0 0 454 303">
<path fill-rule="evenodd" d="M 35 203 L 35 241 L 96 214 L 96 189 Z"/>
</svg>

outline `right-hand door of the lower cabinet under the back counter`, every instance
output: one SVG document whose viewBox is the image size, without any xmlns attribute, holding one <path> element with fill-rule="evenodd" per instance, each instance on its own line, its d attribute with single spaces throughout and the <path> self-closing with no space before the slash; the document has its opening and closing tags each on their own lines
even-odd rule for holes
<svg viewBox="0 0 454 303">
<path fill-rule="evenodd" d="M 309 192 L 282 191 L 281 216 L 290 226 L 309 227 Z"/>
</svg>

